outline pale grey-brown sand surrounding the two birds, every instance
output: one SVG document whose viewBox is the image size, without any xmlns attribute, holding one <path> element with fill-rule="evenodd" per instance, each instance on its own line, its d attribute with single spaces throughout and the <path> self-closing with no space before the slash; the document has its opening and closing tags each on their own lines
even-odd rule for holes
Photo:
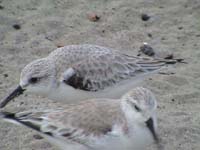
<svg viewBox="0 0 200 150">
<path fill-rule="evenodd" d="M 100 20 L 88 20 L 90 13 L 100 15 Z M 150 20 L 142 21 L 142 13 Z M 13 28 L 16 24 L 21 28 Z M 0 98 L 16 87 L 27 63 L 57 45 L 90 43 L 137 54 L 143 42 L 188 62 L 170 68 L 174 74 L 156 74 L 142 85 L 158 99 L 158 127 L 165 149 L 199 150 L 199 0 L 0 0 Z M 5 109 L 37 107 L 55 106 L 50 100 L 25 95 Z M 35 135 L 0 121 L 0 150 L 57 149 Z"/>
</svg>

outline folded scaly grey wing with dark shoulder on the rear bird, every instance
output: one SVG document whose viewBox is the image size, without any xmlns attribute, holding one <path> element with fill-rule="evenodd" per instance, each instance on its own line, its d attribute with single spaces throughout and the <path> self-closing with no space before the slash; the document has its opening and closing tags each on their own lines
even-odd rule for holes
<svg viewBox="0 0 200 150">
<path fill-rule="evenodd" d="M 102 57 L 107 60 L 102 61 Z M 85 58 L 85 60 L 72 65 L 75 74 L 64 82 L 76 89 L 99 91 L 122 80 L 164 66 L 163 62 L 152 59 L 131 58 L 130 56 L 127 58 L 127 55 L 123 54 L 115 54 L 112 57 L 105 54 L 98 58 Z"/>
</svg>

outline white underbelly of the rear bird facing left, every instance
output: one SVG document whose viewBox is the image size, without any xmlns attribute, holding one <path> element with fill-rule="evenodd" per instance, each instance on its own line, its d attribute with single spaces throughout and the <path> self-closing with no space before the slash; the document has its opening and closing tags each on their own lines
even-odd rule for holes
<svg viewBox="0 0 200 150">
<path fill-rule="evenodd" d="M 92 98 L 118 99 L 123 94 L 136 87 L 138 83 L 139 82 L 127 80 L 120 84 L 99 91 L 84 91 L 74 89 L 73 87 L 62 83 L 58 89 L 54 89 L 49 93 L 48 98 L 64 103 L 74 103 Z"/>
</svg>

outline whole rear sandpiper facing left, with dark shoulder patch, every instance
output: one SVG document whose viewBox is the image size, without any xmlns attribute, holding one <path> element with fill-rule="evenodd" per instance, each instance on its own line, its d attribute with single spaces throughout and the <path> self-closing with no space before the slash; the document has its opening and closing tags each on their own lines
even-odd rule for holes
<svg viewBox="0 0 200 150">
<path fill-rule="evenodd" d="M 65 103 L 120 98 L 140 79 L 169 62 L 130 56 L 97 45 L 65 46 L 25 66 L 19 86 L 2 100 L 0 108 L 24 92 Z"/>
</svg>

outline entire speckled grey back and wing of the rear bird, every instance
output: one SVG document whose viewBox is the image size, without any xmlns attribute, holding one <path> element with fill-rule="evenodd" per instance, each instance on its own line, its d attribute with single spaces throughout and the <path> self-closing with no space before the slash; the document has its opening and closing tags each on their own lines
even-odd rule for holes
<svg viewBox="0 0 200 150">
<path fill-rule="evenodd" d="M 71 45 L 53 51 L 57 76 L 69 68 L 75 73 L 64 82 L 76 89 L 99 91 L 122 80 L 161 68 L 165 62 L 136 57 L 96 45 Z M 62 64 L 62 65 L 60 65 Z M 64 65 L 65 64 L 65 65 Z"/>
</svg>

